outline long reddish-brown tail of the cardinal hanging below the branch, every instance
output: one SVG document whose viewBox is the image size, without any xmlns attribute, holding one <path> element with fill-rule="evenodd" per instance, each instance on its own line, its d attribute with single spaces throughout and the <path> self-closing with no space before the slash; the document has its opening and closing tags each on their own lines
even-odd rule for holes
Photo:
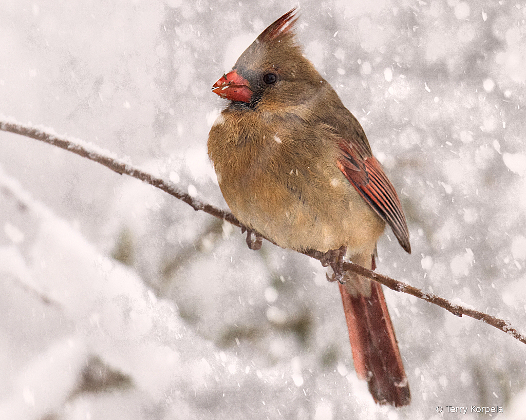
<svg viewBox="0 0 526 420">
<path fill-rule="evenodd" d="M 377 403 L 409 404 L 409 383 L 381 285 L 371 282 L 371 296 L 356 298 L 339 286 L 356 374 L 368 382 Z"/>
</svg>

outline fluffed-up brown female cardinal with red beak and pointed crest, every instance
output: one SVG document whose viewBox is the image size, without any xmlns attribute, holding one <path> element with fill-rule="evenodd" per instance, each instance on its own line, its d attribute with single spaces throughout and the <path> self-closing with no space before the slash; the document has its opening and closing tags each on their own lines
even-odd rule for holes
<svg viewBox="0 0 526 420">
<path fill-rule="evenodd" d="M 208 155 L 245 226 L 283 248 L 347 247 L 346 258 L 374 269 L 386 223 L 410 252 L 406 219 L 360 123 L 296 43 L 294 13 L 265 29 L 215 83 L 230 103 L 210 130 Z M 336 275 L 357 375 L 376 402 L 409 404 L 380 284 Z"/>
</svg>

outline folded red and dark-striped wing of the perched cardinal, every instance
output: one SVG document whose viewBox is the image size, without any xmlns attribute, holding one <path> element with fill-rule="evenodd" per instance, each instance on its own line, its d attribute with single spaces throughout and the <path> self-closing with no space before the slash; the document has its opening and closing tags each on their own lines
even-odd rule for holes
<svg viewBox="0 0 526 420">
<path fill-rule="evenodd" d="M 360 153 L 345 140 L 340 141 L 339 146 L 342 155 L 338 160 L 338 167 L 343 175 L 378 216 L 389 224 L 402 248 L 411 253 L 402 205 L 380 162 L 372 155 L 367 156 L 369 153 Z"/>
</svg>

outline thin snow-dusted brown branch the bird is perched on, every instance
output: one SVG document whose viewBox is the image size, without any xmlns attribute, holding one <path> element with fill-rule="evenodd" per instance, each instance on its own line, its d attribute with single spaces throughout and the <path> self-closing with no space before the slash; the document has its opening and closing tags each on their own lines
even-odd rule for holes
<svg viewBox="0 0 526 420">
<path fill-rule="evenodd" d="M 89 142 L 73 137 L 57 135 L 52 129 L 19 124 L 11 118 L 6 118 L 2 116 L 0 116 L 0 130 L 12 132 L 21 136 L 31 137 L 36 140 L 44 141 L 50 145 L 69 150 L 73 153 L 76 153 L 79 156 L 98 162 L 101 165 L 107 167 L 108 169 L 119 173 L 120 175 L 126 174 L 130 177 L 134 177 L 140 179 L 141 181 L 149 183 L 150 185 L 153 185 L 154 187 L 157 187 L 160 190 L 167 192 L 171 196 L 174 196 L 179 200 L 184 201 L 185 203 L 189 204 L 189 206 L 191 206 L 194 210 L 202 210 L 219 219 L 226 220 L 227 222 L 241 228 L 242 230 L 248 230 L 247 227 L 243 226 L 239 222 L 239 220 L 237 220 L 230 212 L 218 209 L 217 207 L 211 206 L 211 204 L 204 203 L 200 200 L 196 200 L 190 197 L 189 194 L 186 194 L 183 191 L 176 188 L 173 185 L 173 183 L 165 181 L 162 178 L 158 178 L 152 175 L 151 173 L 141 170 L 131 165 L 131 163 L 129 163 L 127 160 L 120 159 L 114 153 L 99 148 L 98 146 L 93 145 Z M 265 237 L 263 236 L 262 238 Z M 269 242 L 274 243 L 268 238 L 265 239 Z M 308 257 L 315 258 L 317 260 L 321 260 L 323 256 L 322 252 L 313 250 L 305 251 L 302 253 L 307 255 Z M 454 315 L 460 317 L 462 317 L 462 315 L 466 315 L 476 320 L 480 320 L 484 323 L 494 326 L 495 328 L 511 335 L 515 339 L 526 344 L 526 336 L 520 334 L 514 327 L 510 325 L 509 322 L 504 321 L 500 318 L 488 315 L 484 312 L 480 312 L 471 308 L 467 308 L 466 306 L 454 304 L 434 294 L 424 293 L 420 289 L 417 289 L 409 284 L 400 282 L 395 279 L 391 279 L 390 277 L 379 274 L 377 272 L 367 270 L 361 267 L 360 265 L 352 262 L 344 263 L 343 269 L 346 271 L 356 272 L 371 280 L 375 280 L 387 286 L 389 289 L 395 290 L 397 292 L 407 293 L 426 302 L 438 305 Z"/>
</svg>

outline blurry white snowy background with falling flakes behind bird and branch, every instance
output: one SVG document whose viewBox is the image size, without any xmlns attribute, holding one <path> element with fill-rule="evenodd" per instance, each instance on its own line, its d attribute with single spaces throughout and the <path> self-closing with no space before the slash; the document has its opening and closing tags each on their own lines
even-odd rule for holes
<svg viewBox="0 0 526 420">
<path fill-rule="evenodd" d="M 0 1 L 0 114 L 127 156 L 226 207 L 211 85 L 274 0 Z M 300 2 L 298 35 L 399 191 L 378 271 L 526 333 L 526 5 Z M 386 291 L 412 393 L 379 407 L 319 262 L 153 187 L 0 132 L 0 418 L 526 418 L 526 346 Z M 439 414 L 436 406 L 444 407 Z"/>
</svg>

